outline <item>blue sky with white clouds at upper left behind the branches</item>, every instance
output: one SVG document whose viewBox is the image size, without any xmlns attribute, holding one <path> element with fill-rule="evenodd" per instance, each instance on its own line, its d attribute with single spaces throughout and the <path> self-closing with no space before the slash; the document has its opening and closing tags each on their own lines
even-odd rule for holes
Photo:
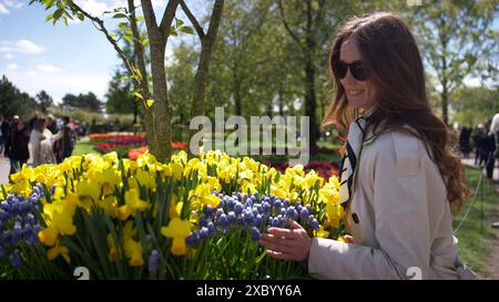
<svg viewBox="0 0 499 302">
<path fill-rule="evenodd" d="M 124 6 L 126 0 L 75 2 L 92 15 L 102 17 L 103 11 Z M 160 19 L 167 1 L 152 2 Z M 191 1 L 186 2 L 190 6 Z M 67 93 L 90 91 L 105 100 L 109 81 L 121 61 L 104 34 L 86 20 L 70 22 L 68 27 L 63 22 L 55 25 L 44 22 L 49 11 L 38 3 L 28 3 L 29 0 L 0 0 L 0 76 L 4 74 L 31 96 L 44 90 L 55 103 L 62 102 Z M 191 7 L 191 10 L 201 17 L 198 8 Z M 181 9 L 177 17 L 184 18 Z M 115 20 L 104 18 L 104 22 L 109 29 L 115 29 Z M 186 39 L 193 41 L 195 38 Z M 167 56 L 177 43 L 175 39 L 169 40 Z"/>
</svg>

